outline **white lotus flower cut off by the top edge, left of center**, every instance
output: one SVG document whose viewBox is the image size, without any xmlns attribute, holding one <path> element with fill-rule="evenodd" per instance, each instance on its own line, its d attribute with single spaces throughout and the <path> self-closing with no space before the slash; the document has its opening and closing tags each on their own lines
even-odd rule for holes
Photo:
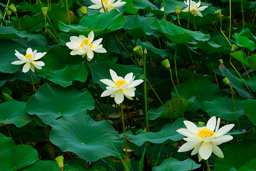
<svg viewBox="0 0 256 171">
<path fill-rule="evenodd" d="M 91 0 L 96 5 L 88 6 L 90 9 L 100 9 L 102 8 L 102 3 L 105 7 L 105 11 L 108 12 L 111 9 L 116 9 L 119 6 L 124 5 L 126 2 L 121 2 L 122 0 L 118 0 L 115 3 L 113 3 L 115 0 Z M 116 9 L 119 11 L 118 9 Z M 104 9 L 102 8 L 99 12 L 104 12 Z"/>
</svg>

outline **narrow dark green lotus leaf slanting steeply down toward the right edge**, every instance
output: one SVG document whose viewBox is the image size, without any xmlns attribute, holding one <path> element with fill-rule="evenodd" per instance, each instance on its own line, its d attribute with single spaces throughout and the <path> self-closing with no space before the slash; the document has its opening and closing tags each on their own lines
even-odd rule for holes
<svg viewBox="0 0 256 171">
<path fill-rule="evenodd" d="M 248 91 L 248 89 L 245 86 L 244 82 L 240 78 L 237 78 L 235 75 L 233 75 L 230 72 L 230 70 L 228 70 L 224 66 L 224 64 L 221 64 L 218 68 L 219 68 L 221 74 L 228 78 L 228 80 L 230 81 L 231 87 L 235 88 L 237 93 L 239 93 L 239 95 L 242 98 L 253 98 L 250 95 L 250 92 Z"/>
</svg>

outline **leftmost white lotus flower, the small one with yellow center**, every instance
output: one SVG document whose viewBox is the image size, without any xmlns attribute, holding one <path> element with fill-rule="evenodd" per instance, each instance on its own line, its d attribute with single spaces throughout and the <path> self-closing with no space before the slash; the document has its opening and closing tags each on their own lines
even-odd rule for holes
<svg viewBox="0 0 256 171">
<path fill-rule="evenodd" d="M 41 53 L 38 52 L 36 50 L 32 51 L 31 48 L 26 49 L 26 55 L 22 55 L 20 54 L 17 50 L 15 50 L 15 55 L 17 56 L 17 58 L 19 58 L 20 61 L 14 61 L 11 64 L 15 64 L 15 65 L 21 65 L 26 63 L 23 68 L 22 68 L 22 72 L 28 72 L 29 69 L 32 72 L 35 72 L 35 68 L 41 70 L 42 67 L 44 66 L 44 62 L 43 61 L 36 61 L 40 58 L 42 58 L 46 52 Z"/>
</svg>

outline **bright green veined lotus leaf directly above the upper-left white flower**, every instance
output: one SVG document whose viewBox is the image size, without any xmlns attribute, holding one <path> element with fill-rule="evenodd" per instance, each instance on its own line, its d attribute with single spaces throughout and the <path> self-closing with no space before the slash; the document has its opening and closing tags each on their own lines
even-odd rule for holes
<svg viewBox="0 0 256 171">
<path fill-rule="evenodd" d="M 93 31 L 95 36 L 102 33 L 109 33 L 121 29 L 125 23 L 125 17 L 116 9 L 110 12 L 97 13 L 87 17 L 83 17 L 79 21 L 79 25 L 66 25 L 59 22 L 59 29 L 64 32 L 75 32 L 88 36 Z"/>
</svg>

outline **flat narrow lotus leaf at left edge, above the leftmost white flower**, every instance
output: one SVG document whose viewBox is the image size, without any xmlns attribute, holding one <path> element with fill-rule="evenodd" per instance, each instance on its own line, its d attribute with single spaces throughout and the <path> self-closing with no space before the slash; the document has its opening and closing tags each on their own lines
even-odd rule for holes
<svg viewBox="0 0 256 171">
<path fill-rule="evenodd" d="M 23 35 L 15 28 L 0 26 L 0 39 L 14 39 L 14 38 L 23 38 L 30 41 L 32 39 L 32 36 Z"/>
</svg>

